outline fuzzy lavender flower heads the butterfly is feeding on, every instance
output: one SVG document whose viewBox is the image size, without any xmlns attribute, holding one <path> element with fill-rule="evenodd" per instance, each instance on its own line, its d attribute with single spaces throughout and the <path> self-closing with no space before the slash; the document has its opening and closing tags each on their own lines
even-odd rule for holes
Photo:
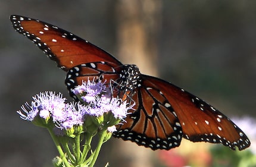
<svg viewBox="0 0 256 167">
<path fill-rule="evenodd" d="M 73 93 L 85 104 L 65 103 L 63 94 L 44 92 L 33 96 L 31 105 L 25 103 L 17 113 L 24 120 L 51 120 L 61 130 L 68 130 L 74 125 L 83 125 L 88 116 L 98 117 L 111 112 L 114 119 L 122 120 L 130 109 L 126 102 L 112 97 L 110 89 L 101 82 L 88 80 L 87 83 L 83 82 L 81 86 L 77 86 Z M 110 131 L 114 130 L 114 127 L 110 128 Z"/>
</svg>

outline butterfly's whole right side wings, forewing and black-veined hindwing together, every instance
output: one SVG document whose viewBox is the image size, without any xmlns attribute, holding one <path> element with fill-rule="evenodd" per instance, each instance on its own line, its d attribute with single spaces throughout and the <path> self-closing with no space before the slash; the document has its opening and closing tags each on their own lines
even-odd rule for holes
<svg viewBox="0 0 256 167">
<path fill-rule="evenodd" d="M 145 141 L 142 143 L 143 140 L 136 137 L 139 134 L 152 140 L 154 144 L 147 145 L 153 150 L 179 146 L 180 136 L 193 142 L 222 143 L 233 150 L 235 146 L 242 150 L 250 145 L 245 133 L 227 116 L 171 83 L 142 75 L 142 86 L 135 92 L 132 97 L 137 102 L 135 111 L 126 118 L 127 123 L 118 128 L 116 137 L 124 140 L 134 137 L 133 141 L 143 145 Z"/>
</svg>

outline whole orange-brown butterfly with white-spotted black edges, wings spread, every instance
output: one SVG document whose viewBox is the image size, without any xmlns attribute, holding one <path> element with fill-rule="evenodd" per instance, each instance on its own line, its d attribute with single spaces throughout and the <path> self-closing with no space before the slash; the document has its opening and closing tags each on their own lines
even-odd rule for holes
<svg viewBox="0 0 256 167">
<path fill-rule="evenodd" d="M 152 150 L 178 147 L 182 138 L 222 143 L 233 150 L 250 146 L 245 133 L 226 115 L 180 87 L 141 74 L 136 65 L 123 65 L 110 53 L 52 24 L 20 15 L 10 19 L 18 33 L 67 72 L 68 90 L 99 78 L 113 81 L 120 93 L 135 102 L 125 122 L 117 125 L 114 137 Z"/>
</svg>

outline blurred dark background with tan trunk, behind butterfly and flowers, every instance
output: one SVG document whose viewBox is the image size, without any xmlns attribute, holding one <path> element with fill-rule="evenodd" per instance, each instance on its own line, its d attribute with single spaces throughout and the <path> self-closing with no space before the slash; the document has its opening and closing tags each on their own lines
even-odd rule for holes
<svg viewBox="0 0 256 167">
<path fill-rule="evenodd" d="M 256 1 L 0 1 L 1 166 L 51 166 L 57 155 L 51 137 L 15 111 L 45 90 L 68 97 L 65 73 L 14 31 L 11 14 L 71 31 L 124 64 L 137 64 L 142 73 L 196 94 L 231 118 L 256 116 Z M 183 145 L 177 152 L 194 150 L 193 156 L 209 159 L 198 148 L 210 144 Z M 159 157 L 160 152 L 113 138 L 104 145 L 97 166 L 171 166 Z"/>
</svg>

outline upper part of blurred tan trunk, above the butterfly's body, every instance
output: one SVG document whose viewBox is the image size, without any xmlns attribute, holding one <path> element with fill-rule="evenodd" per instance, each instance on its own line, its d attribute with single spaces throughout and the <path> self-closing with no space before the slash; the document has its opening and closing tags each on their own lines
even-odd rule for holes
<svg viewBox="0 0 256 167">
<path fill-rule="evenodd" d="M 157 37 L 161 1 L 117 1 L 117 55 L 142 73 L 157 75 Z"/>
</svg>

